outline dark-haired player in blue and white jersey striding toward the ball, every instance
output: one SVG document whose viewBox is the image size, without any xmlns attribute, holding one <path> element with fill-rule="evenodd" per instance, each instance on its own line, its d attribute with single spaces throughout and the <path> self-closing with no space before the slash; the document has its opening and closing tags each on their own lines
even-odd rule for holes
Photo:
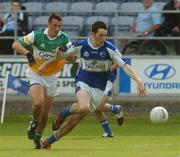
<svg viewBox="0 0 180 157">
<path fill-rule="evenodd" d="M 92 25 L 90 38 L 77 41 L 66 52 L 57 49 L 55 57 L 39 68 L 41 70 L 50 62 L 73 55 L 78 56 L 80 60 L 80 68 L 75 78 L 77 102 L 65 107 L 59 114 L 56 122 L 62 127 L 43 142 L 43 148 L 50 148 L 52 143 L 68 133 L 63 127 L 63 122 L 70 115 L 80 114 L 83 117 L 94 111 L 110 111 L 115 115 L 119 113 L 118 106 L 106 103 L 109 89 L 112 89 L 113 84 L 108 75 L 112 64 L 118 64 L 137 83 L 139 96 L 147 94 L 144 84 L 135 70 L 122 60 L 122 55 L 116 46 L 106 40 L 107 29 L 104 22 L 96 21 Z"/>
</svg>

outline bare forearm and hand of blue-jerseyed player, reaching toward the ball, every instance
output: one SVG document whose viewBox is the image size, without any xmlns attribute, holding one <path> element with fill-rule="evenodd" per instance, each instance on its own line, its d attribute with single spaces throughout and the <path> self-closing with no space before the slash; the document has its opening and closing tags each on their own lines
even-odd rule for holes
<svg viewBox="0 0 180 157">
<path fill-rule="evenodd" d="M 137 90 L 139 96 L 145 96 L 147 95 L 147 90 L 144 87 L 144 84 L 141 80 L 141 78 L 136 74 L 135 70 L 129 66 L 128 64 L 125 64 L 123 67 L 123 70 L 137 83 Z"/>
</svg>

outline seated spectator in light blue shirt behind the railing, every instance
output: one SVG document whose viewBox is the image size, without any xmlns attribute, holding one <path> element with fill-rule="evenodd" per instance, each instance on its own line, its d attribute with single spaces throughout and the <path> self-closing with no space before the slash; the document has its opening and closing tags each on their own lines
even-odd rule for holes
<svg viewBox="0 0 180 157">
<path fill-rule="evenodd" d="M 143 0 L 143 12 L 139 12 L 134 24 L 131 27 L 132 35 L 136 37 L 153 36 L 154 32 L 160 27 L 161 14 L 159 9 L 154 5 L 154 0 Z M 146 54 L 146 49 L 142 44 L 147 43 L 154 45 L 154 41 L 135 40 L 130 41 L 123 49 L 122 53 Z M 140 50 L 143 47 L 143 50 Z M 154 50 L 153 50 L 154 51 Z M 151 53 L 151 52 L 150 52 Z M 155 53 L 155 52 L 153 52 Z"/>
</svg>

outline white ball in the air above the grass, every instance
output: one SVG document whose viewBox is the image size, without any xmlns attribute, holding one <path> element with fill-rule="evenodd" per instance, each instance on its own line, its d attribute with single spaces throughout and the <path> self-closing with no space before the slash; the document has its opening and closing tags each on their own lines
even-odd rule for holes
<svg viewBox="0 0 180 157">
<path fill-rule="evenodd" d="M 168 112 L 164 107 L 154 107 L 150 112 L 150 120 L 154 124 L 163 124 L 168 120 Z"/>
</svg>

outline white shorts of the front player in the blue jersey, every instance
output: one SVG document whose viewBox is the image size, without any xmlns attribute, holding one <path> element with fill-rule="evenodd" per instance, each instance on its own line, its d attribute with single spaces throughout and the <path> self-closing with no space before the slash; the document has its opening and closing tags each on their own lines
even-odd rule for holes
<svg viewBox="0 0 180 157">
<path fill-rule="evenodd" d="M 89 87 L 87 84 L 78 81 L 75 84 L 76 92 L 79 91 L 80 89 L 87 90 L 89 95 L 90 95 L 90 106 L 89 106 L 89 111 L 94 112 L 96 110 L 96 107 L 100 104 L 102 101 L 103 97 L 105 96 L 104 92 L 98 88 L 92 88 Z"/>
</svg>

